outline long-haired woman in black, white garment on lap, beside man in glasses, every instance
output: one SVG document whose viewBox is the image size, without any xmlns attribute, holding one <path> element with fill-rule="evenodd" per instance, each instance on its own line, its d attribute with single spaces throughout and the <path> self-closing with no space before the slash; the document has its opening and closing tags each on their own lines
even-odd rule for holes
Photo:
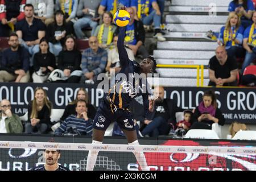
<svg viewBox="0 0 256 182">
<path fill-rule="evenodd" d="M 49 82 L 79 82 L 82 75 L 80 68 L 81 53 L 76 49 L 76 40 L 72 35 L 65 38 L 65 45 L 57 62 L 57 69 L 48 77 Z"/>
</svg>

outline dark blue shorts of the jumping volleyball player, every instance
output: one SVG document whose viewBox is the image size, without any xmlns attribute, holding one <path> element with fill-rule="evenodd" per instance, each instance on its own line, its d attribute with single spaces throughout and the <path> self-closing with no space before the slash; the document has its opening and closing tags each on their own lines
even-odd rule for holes
<svg viewBox="0 0 256 182">
<path fill-rule="evenodd" d="M 94 117 L 93 128 L 97 130 L 108 129 L 111 122 L 116 121 L 121 129 L 133 131 L 135 130 L 134 123 L 131 113 L 128 109 L 117 109 L 112 111 L 112 104 L 110 104 L 105 98 L 101 101 L 98 106 L 97 113 Z"/>
</svg>

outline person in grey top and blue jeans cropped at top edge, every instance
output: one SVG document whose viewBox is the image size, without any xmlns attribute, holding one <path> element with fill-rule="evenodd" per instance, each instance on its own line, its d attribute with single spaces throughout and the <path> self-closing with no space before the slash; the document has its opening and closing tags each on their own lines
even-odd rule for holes
<svg viewBox="0 0 256 182">
<path fill-rule="evenodd" d="M 77 9 L 76 15 L 78 17 L 82 17 L 78 19 L 74 23 L 74 29 L 76 32 L 76 36 L 79 39 L 86 39 L 86 36 L 84 32 L 82 32 L 82 28 L 91 27 L 92 28 L 92 34 L 94 34 L 94 31 L 96 30 L 96 27 L 98 25 L 98 20 L 100 20 L 100 16 L 98 15 L 97 8 L 100 4 L 101 0 L 94 0 L 94 1 L 86 1 L 86 0 L 80 0 L 79 6 Z"/>
</svg>

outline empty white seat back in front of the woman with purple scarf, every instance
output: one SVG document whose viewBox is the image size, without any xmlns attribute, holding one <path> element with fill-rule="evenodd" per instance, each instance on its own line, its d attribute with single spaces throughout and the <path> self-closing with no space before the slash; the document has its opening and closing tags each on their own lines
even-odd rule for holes
<svg viewBox="0 0 256 182">
<path fill-rule="evenodd" d="M 184 138 L 220 139 L 213 130 L 188 130 Z"/>
</svg>

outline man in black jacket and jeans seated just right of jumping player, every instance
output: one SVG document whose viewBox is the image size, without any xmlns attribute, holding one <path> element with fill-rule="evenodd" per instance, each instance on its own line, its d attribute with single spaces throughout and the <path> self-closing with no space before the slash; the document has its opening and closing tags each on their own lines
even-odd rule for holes
<svg viewBox="0 0 256 182">
<path fill-rule="evenodd" d="M 144 120 L 144 129 L 141 134 L 143 136 L 149 135 L 150 137 L 158 137 L 159 135 L 168 135 L 170 130 L 170 123 L 176 126 L 175 113 L 183 111 L 177 107 L 174 100 L 164 98 L 164 88 L 158 86 L 155 89 L 155 96 L 158 100 L 155 102 L 155 110 L 151 113 L 150 118 Z"/>
</svg>

